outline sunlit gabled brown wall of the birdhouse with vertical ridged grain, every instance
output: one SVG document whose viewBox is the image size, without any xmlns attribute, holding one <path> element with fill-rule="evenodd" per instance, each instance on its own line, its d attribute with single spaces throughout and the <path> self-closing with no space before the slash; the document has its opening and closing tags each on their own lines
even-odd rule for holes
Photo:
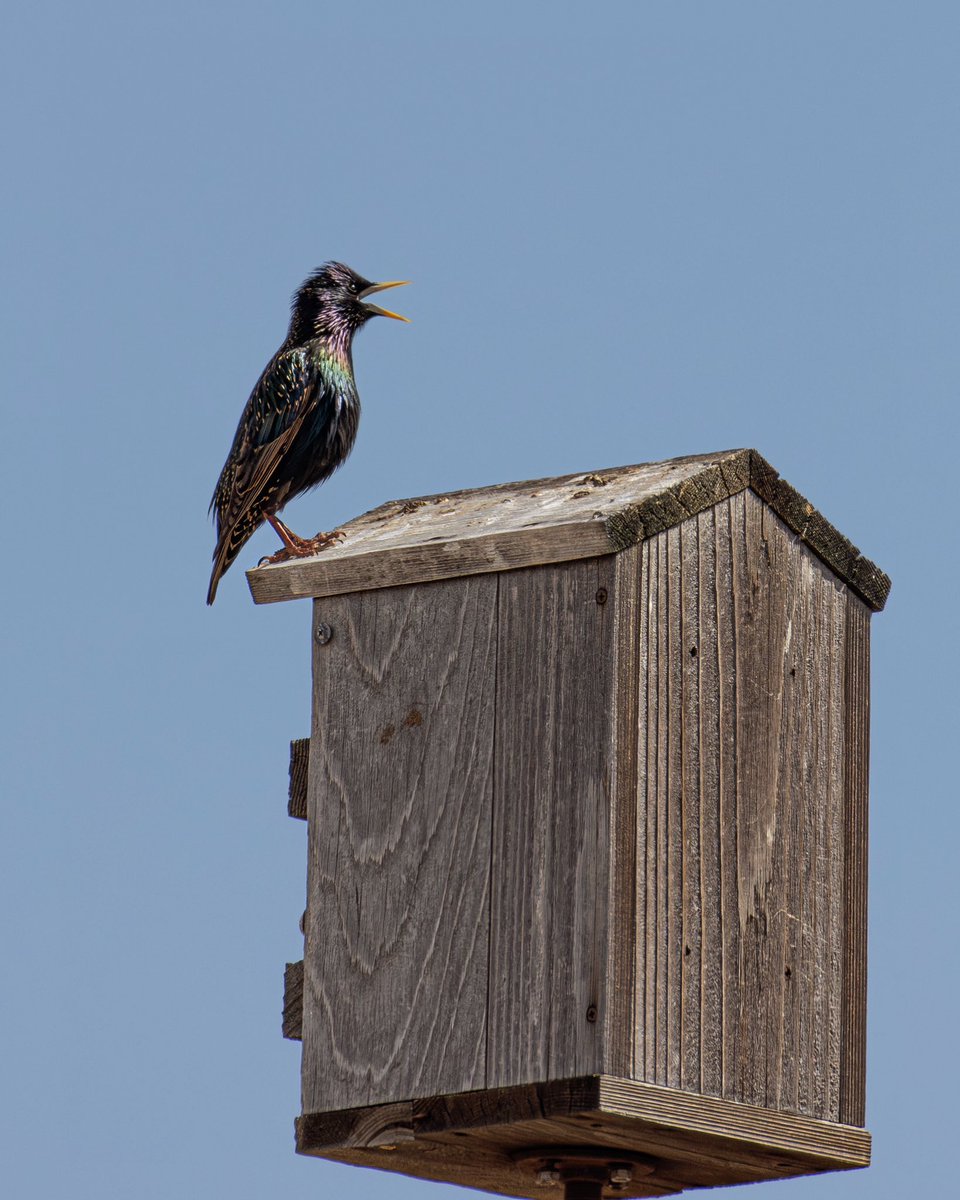
<svg viewBox="0 0 960 1200">
<path fill-rule="evenodd" d="M 749 491 L 640 593 L 635 1078 L 836 1121 L 859 601 Z"/>
</svg>

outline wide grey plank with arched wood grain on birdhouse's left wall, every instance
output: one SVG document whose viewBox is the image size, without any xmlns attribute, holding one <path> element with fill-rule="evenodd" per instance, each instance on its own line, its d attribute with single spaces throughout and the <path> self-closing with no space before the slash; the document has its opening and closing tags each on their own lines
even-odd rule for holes
<svg viewBox="0 0 960 1200">
<path fill-rule="evenodd" d="M 497 587 L 316 605 L 307 1112 L 484 1082 Z"/>
</svg>

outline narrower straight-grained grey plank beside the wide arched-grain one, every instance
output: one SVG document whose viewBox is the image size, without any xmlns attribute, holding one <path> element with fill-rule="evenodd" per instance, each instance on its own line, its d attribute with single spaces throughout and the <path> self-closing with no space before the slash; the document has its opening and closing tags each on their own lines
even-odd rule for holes
<svg viewBox="0 0 960 1200">
<path fill-rule="evenodd" d="M 500 578 L 488 1087 L 602 1068 L 614 586 L 612 556 Z"/>
</svg>

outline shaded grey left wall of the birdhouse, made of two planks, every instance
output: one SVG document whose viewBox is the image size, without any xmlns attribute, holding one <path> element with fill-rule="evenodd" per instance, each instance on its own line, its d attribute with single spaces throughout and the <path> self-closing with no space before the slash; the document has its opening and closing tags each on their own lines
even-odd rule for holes
<svg viewBox="0 0 960 1200">
<path fill-rule="evenodd" d="M 605 1069 L 617 568 L 316 602 L 305 1111 Z"/>
</svg>

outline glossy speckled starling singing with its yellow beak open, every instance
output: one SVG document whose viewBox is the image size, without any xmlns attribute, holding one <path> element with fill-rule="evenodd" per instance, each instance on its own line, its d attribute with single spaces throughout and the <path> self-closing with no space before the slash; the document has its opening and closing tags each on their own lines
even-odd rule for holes
<svg viewBox="0 0 960 1200">
<path fill-rule="evenodd" d="M 217 541 L 208 605 L 264 521 L 283 542 L 266 562 L 316 554 L 343 536 L 334 530 L 299 538 L 277 512 L 346 462 L 360 420 L 354 335 L 371 317 L 408 320 L 367 296 L 408 282 L 371 283 L 343 263 L 324 263 L 294 293 L 287 337 L 250 394 L 210 500 Z"/>
</svg>

